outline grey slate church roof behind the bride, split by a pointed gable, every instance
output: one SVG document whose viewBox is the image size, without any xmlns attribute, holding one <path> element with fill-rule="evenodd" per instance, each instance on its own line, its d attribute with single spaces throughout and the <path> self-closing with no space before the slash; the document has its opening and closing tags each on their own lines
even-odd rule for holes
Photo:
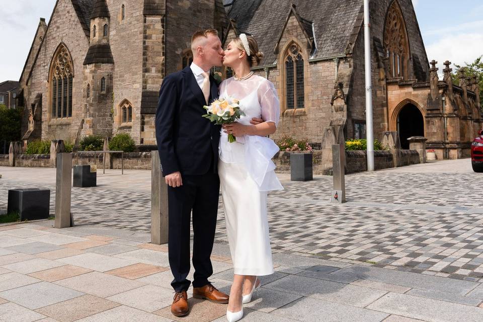
<svg viewBox="0 0 483 322">
<path fill-rule="evenodd" d="M 261 62 L 271 65 L 274 49 L 282 32 L 291 5 L 305 21 L 313 22 L 317 51 L 312 58 L 344 55 L 354 27 L 361 22 L 362 0 L 234 0 L 227 9 L 228 17 L 236 21 L 241 32 L 252 34 L 264 53 Z M 227 4 L 227 3 L 225 3 Z M 308 26 L 305 26 L 308 29 Z M 308 31 L 308 30 L 307 30 Z"/>
</svg>

